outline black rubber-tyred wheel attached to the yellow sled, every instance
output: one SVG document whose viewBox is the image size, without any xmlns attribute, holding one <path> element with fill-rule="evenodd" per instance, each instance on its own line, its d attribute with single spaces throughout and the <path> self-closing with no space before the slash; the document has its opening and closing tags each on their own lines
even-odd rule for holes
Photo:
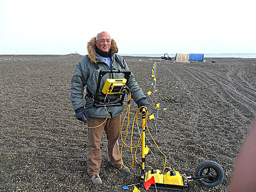
<svg viewBox="0 0 256 192">
<path fill-rule="evenodd" d="M 218 186 L 223 180 L 224 172 L 218 163 L 214 161 L 201 162 L 195 170 L 195 176 L 209 176 L 198 182 L 204 186 L 214 187 Z"/>
</svg>

